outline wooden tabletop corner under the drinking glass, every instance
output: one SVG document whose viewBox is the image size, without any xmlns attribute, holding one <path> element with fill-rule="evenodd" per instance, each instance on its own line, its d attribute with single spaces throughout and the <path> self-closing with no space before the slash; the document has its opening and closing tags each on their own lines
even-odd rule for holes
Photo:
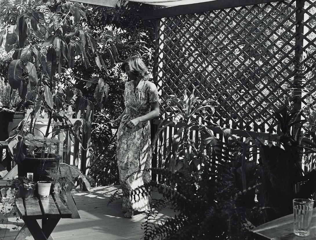
<svg viewBox="0 0 316 240">
<path fill-rule="evenodd" d="M 313 209 L 311 234 L 299 237 L 293 233 L 293 214 L 275 219 L 252 229 L 253 238 L 256 240 L 315 240 L 316 239 L 316 208 Z"/>
</svg>

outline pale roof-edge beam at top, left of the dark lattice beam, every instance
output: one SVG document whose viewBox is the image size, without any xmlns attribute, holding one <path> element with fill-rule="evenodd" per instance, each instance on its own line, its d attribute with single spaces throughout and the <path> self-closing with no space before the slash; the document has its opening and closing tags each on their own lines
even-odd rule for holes
<svg viewBox="0 0 316 240">
<path fill-rule="evenodd" d="M 87 3 L 92 5 L 118 8 L 135 12 L 146 12 L 154 9 L 153 5 L 146 3 L 134 3 L 125 0 L 70 0 L 71 2 Z"/>
</svg>

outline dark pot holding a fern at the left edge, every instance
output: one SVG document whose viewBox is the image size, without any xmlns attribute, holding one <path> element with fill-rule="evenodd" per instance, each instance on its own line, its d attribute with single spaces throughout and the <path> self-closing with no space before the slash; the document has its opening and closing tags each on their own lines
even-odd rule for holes
<svg viewBox="0 0 316 240">
<path fill-rule="evenodd" d="M 0 141 L 5 141 L 9 138 L 10 132 L 16 128 L 26 112 L 0 112 Z"/>
</svg>

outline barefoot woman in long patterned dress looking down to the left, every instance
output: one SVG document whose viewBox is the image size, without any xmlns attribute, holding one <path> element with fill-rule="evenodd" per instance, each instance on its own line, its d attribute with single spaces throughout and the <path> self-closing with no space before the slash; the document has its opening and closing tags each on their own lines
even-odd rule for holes
<svg viewBox="0 0 316 240">
<path fill-rule="evenodd" d="M 149 120 L 159 116 L 159 97 L 157 87 L 149 81 L 150 73 L 139 57 L 126 59 L 121 69 L 131 81 L 125 83 L 125 110 L 113 122 L 120 124 L 117 137 L 120 183 L 132 190 L 150 181 L 150 173 L 143 170 L 151 165 Z M 123 198 L 125 218 L 133 217 L 134 211 L 148 208 L 146 195 L 139 195 L 136 200 Z"/>
</svg>

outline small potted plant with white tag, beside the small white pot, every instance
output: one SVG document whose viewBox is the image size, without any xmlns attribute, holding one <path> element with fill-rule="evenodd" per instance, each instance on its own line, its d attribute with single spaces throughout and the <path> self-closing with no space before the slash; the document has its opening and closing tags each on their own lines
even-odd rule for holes
<svg viewBox="0 0 316 240">
<path fill-rule="evenodd" d="M 23 198 L 34 196 L 36 182 L 27 177 L 18 177 L 12 180 L 12 187 L 18 189 L 17 195 Z"/>
</svg>

